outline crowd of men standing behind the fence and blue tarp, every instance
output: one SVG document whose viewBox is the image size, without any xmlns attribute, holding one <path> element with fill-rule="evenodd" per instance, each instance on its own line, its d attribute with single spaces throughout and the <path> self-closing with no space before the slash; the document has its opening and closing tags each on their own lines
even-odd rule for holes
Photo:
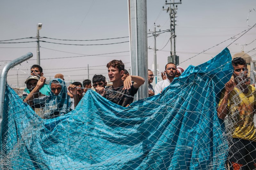
<svg viewBox="0 0 256 170">
<path fill-rule="evenodd" d="M 236 116 L 234 132 L 230 142 L 230 155 L 228 164 L 231 169 L 256 168 L 256 131 L 253 124 L 253 115 L 256 109 L 255 87 L 244 81 L 247 79 L 248 69 L 243 58 L 237 57 L 232 60 L 234 68 L 233 76 L 225 84 L 222 92 L 218 117 L 225 119 L 230 115 Z M 130 75 L 124 69 L 121 60 L 112 60 L 107 64 L 108 77 L 112 85 L 107 86 L 106 78 L 103 75 L 94 75 L 91 80 L 84 80 L 83 84 L 74 82 L 66 88 L 64 76 L 57 74 L 49 84 L 45 83 L 46 78 L 43 69 L 39 65 L 31 67 L 31 75 L 25 81 L 27 88 L 23 92 L 23 101 L 29 104 L 39 116 L 44 119 L 51 119 L 64 115 L 74 110 L 79 101 L 83 98 L 83 93 L 88 92 L 93 86 L 95 91 L 107 100 L 123 107 L 128 107 L 133 102 L 133 96 L 138 88 L 144 84 L 144 78 Z M 148 96 L 161 93 L 165 87 L 169 86 L 173 79 L 179 77 L 184 69 L 174 63 L 167 63 L 165 71 L 162 72 L 163 80 L 158 82 L 153 88 L 151 83 L 154 74 L 148 70 Z M 241 76 L 242 75 L 242 76 Z M 234 101 L 234 96 L 238 96 L 239 102 Z"/>
</svg>

